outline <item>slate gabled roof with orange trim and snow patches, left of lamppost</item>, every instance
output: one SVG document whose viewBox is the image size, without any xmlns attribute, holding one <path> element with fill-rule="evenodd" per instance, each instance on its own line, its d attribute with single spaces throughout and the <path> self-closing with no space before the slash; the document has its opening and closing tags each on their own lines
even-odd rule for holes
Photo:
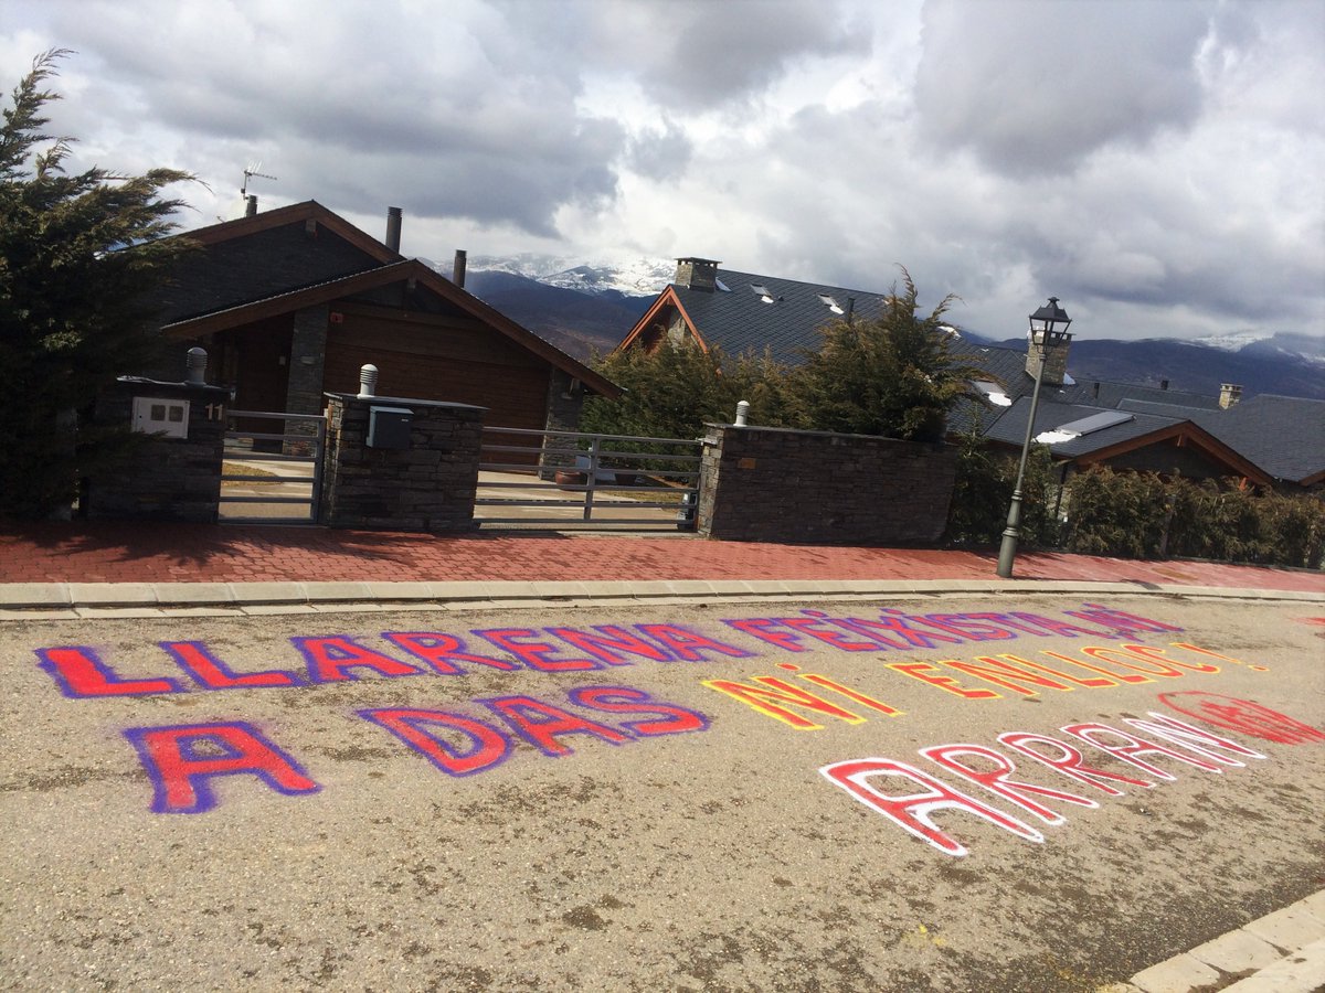
<svg viewBox="0 0 1325 993">
<path fill-rule="evenodd" d="M 674 306 L 705 351 L 718 346 L 726 355 L 737 356 L 750 351 L 762 355 L 767 350 L 776 361 L 799 365 L 804 361 L 802 351 L 819 347 L 819 328 L 845 316 L 848 310 L 873 318 L 886 299 L 886 294 L 867 290 L 731 269 L 718 269 L 717 281 L 714 290 L 669 285 L 617 348 L 629 347 L 668 306 Z"/>
</svg>

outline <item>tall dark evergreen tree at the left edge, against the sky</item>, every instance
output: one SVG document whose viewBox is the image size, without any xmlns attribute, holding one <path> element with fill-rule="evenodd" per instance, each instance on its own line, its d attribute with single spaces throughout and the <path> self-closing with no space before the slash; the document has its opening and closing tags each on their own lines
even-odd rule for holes
<svg viewBox="0 0 1325 993">
<path fill-rule="evenodd" d="M 187 173 L 66 175 L 73 139 L 45 134 L 42 114 L 60 99 L 44 86 L 66 54 L 33 61 L 0 127 L 0 516 L 58 514 L 78 477 L 122 449 L 127 425 L 99 428 L 87 413 L 152 355 L 144 301 L 187 248 L 163 240 L 182 201 L 160 199 Z"/>
</svg>

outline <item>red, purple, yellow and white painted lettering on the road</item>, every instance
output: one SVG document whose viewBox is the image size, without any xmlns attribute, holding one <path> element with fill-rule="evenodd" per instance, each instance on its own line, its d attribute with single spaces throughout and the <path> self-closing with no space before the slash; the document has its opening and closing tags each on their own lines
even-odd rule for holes
<svg viewBox="0 0 1325 993">
<path fill-rule="evenodd" d="M 922 685 L 935 699 L 957 698 L 983 706 L 1041 694 L 1171 686 L 1174 679 L 1218 675 L 1226 666 L 1267 671 L 1264 665 L 1243 662 L 1190 639 L 1170 641 L 1183 629 L 1102 604 L 1085 604 L 1061 616 L 1019 610 L 917 614 L 885 608 L 860 617 L 807 609 L 790 616 L 733 617 L 722 620 L 721 626 L 719 632 L 704 632 L 645 622 L 488 628 L 464 634 L 382 632 L 375 638 L 309 634 L 289 639 L 290 659 L 260 667 L 227 661 L 204 641 L 175 639 L 155 646 L 172 666 L 167 671 L 142 671 L 140 661 L 111 659 L 87 645 L 41 647 L 36 655 L 40 669 L 73 700 L 199 691 L 299 692 L 360 681 L 529 671 L 572 674 L 583 682 L 587 673 L 612 673 L 611 685 L 572 686 L 555 699 L 513 692 L 474 698 L 445 710 L 360 707 L 347 715 L 379 728 L 452 777 L 492 771 L 517 745 L 558 759 L 574 755 L 575 743 L 586 740 L 620 747 L 710 730 L 708 714 L 657 699 L 615 678 L 623 669 L 639 665 L 713 667 L 767 658 L 780 675 L 713 677 L 700 683 L 716 694 L 714 703 L 749 707 L 794 731 L 905 716 L 889 702 L 892 690 L 904 685 Z M 1072 639 L 1076 646 L 1069 651 L 1037 649 L 1034 642 L 1039 638 Z M 1149 643 L 1154 641 L 1165 643 Z M 1016 650 L 990 651 L 990 642 L 1000 642 L 999 649 L 1016 642 Z M 975 651 L 988 654 L 966 657 L 959 651 L 961 646 L 977 643 L 980 647 Z M 878 665 L 869 670 L 872 675 L 859 678 L 869 685 L 849 686 L 840 678 L 803 671 L 799 662 L 790 661 L 811 651 L 869 654 L 877 657 Z M 890 659 L 896 653 L 913 657 Z M 1265 741 L 1325 740 L 1314 728 L 1248 700 L 1196 690 L 1163 692 L 1158 700 L 1191 720 Z M 933 822 L 933 813 L 962 812 L 1041 842 L 1044 834 L 1032 820 L 1057 826 L 1067 821 L 1064 808 L 1098 806 L 1092 793 L 1120 797 L 1125 790 L 1150 789 L 1175 779 L 1147 759 L 1220 773 L 1244 765 L 1244 759 L 1265 757 L 1155 711 L 1147 719 L 1125 718 L 1121 723 L 1126 727 L 1068 724 L 1059 730 L 1061 736 L 1010 731 L 998 736 L 1002 751 L 970 743 L 920 749 L 922 759 L 937 767 L 934 771 L 888 757 L 864 757 L 831 763 L 820 773 L 912 835 L 961 855 L 966 849 Z M 292 752 L 277 745 L 272 730 L 250 722 L 138 726 L 125 728 L 123 736 L 152 785 L 150 806 L 158 813 L 213 809 L 219 802 L 213 781 L 221 776 L 248 776 L 289 797 L 322 789 Z M 1092 752 L 1101 757 L 1088 757 Z M 1100 768 L 1101 760 L 1122 763 L 1128 772 Z M 1015 779 L 1018 763 L 1067 777 L 1076 792 Z M 954 779 L 962 789 L 951 784 Z M 910 792 L 884 792 L 878 785 L 884 781 Z M 963 792 L 971 786 L 992 798 L 978 800 Z"/>
</svg>

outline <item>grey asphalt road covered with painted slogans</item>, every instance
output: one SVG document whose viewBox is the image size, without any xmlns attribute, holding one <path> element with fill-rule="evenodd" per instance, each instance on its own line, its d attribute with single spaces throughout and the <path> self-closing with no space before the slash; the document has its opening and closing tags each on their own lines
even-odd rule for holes
<svg viewBox="0 0 1325 993">
<path fill-rule="evenodd" d="M 1094 990 L 1325 884 L 1325 608 L 1104 606 L 5 621 L 0 986 Z"/>
</svg>

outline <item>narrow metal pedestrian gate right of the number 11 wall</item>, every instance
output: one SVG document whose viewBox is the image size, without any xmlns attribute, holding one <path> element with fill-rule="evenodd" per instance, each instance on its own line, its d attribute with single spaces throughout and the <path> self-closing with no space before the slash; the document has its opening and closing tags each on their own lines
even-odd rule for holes
<svg viewBox="0 0 1325 993">
<path fill-rule="evenodd" d="M 227 418 L 221 523 L 317 523 L 326 417 L 227 410 Z"/>
</svg>

